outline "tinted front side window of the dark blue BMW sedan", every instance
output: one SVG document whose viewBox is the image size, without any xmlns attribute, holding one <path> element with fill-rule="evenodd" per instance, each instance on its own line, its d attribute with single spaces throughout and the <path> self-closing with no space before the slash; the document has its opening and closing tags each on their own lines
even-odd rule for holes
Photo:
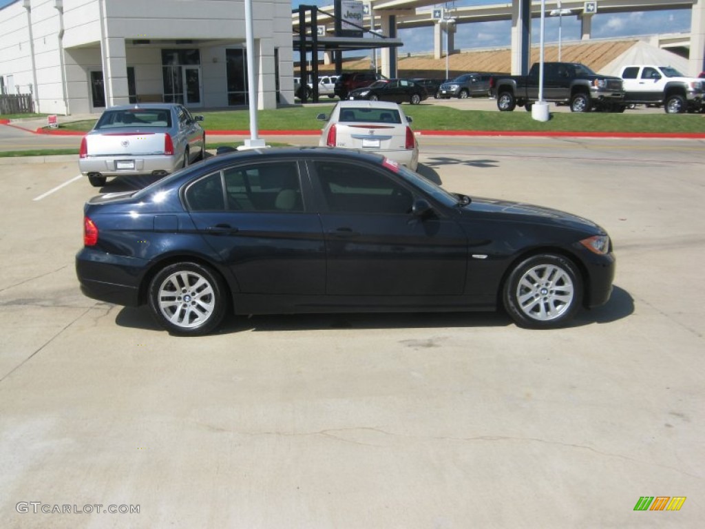
<svg viewBox="0 0 705 529">
<path fill-rule="evenodd" d="M 333 213 L 407 214 L 413 195 L 381 171 L 345 162 L 314 162 L 326 205 Z"/>
</svg>

